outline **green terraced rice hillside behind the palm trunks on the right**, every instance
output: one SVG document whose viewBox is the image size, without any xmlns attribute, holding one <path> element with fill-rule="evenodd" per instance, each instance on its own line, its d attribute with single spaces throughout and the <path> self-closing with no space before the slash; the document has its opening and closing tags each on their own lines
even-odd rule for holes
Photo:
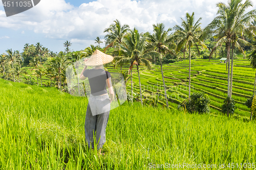
<svg viewBox="0 0 256 170">
<path fill-rule="evenodd" d="M 163 71 L 169 106 L 176 108 L 188 97 L 188 61 L 164 65 Z M 232 98 L 237 103 L 236 114 L 250 115 L 249 109 L 243 103 L 253 94 L 254 77 L 255 71 L 249 67 L 247 60 L 234 61 Z M 133 89 L 139 92 L 137 74 L 134 74 L 134 81 Z M 154 94 L 157 90 L 164 94 L 160 66 L 142 71 L 141 84 L 144 95 Z M 127 85 L 127 90 L 131 90 L 130 85 Z M 221 111 L 221 105 L 227 97 L 226 65 L 219 63 L 219 60 L 192 60 L 191 92 L 207 93 L 211 100 L 211 110 Z"/>
</svg>

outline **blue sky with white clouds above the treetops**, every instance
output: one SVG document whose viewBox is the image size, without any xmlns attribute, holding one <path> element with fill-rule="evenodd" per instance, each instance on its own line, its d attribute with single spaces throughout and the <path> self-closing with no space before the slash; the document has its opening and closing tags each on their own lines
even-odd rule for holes
<svg viewBox="0 0 256 170">
<path fill-rule="evenodd" d="M 72 50 L 83 50 L 96 45 L 97 36 L 103 41 L 103 30 L 116 19 L 139 32 L 152 32 L 154 23 L 173 28 L 181 24 L 186 12 L 195 12 L 195 19 L 202 17 L 201 26 L 205 27 L 216 17 L 218 2 L 227 0 L 41 0 L 32 9 L 10 17 L 0 2 L 0 54 L 10 48 L 22 52 L 25 43 L 37 42 L 53 52 L 64 51 L 67 40 Z M 255 6 L 256 0 L 252 2 Z"/>
</svg>

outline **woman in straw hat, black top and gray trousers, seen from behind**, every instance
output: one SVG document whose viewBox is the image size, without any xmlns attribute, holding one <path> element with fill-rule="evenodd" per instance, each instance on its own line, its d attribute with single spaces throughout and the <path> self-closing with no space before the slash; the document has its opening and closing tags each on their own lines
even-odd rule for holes
<svg viewBox="0 0 256 170">
<path fill-rule="evenodd" d="M 102 69 L 103 64 L 109 63 L 114 58 L 96 50 L 90 59 L 85 59 L 85 66 L 80 74 L 80 80 L 89 79 L 91 94 L 86 111 L 84 131 L 88 147 L 94 149 L 94 135 L 98 143 L 97 149 L 101 154 L 102 145 L 105 143 L 105 129 L 110 114 L 110 103 L 114 100 L 114 90 L 111 83 L 109 71 Z M 95 66 L 87 69 L 87 66 Z M 106 91 L 109 89 L 110 97 Z M 95 134 L 96 131 L 96 134 Z"/>
</svg>

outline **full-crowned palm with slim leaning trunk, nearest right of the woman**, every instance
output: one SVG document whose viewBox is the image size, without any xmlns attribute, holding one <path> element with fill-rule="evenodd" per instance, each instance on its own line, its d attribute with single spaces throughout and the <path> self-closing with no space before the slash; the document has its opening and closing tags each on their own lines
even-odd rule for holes
<svg viewBox="0 0 256 170">
<path fill-rule="evenodd" d="M 142 104 L 142 94 L 141 94 L 141 83 L 140 83 L 140 72 L 139 65 L 145 65 L 147 69 L 152 68 L 152 64 L 149 60 L 151 56 L 159 56 L 158 52 L 146 51 L 146 41 L 147 37 L 140 36 L 138 30 L 134 28 L 133 31 L 127 33 L 123 37 L 123 42 L 120 44 L 120 51 L 126 58 L 131 58 L 131 65 L 135 64 L 137 66 L 138 77 L 139 77 L 139 87 L 140 87 L 140 101 Z"/>
</svg>

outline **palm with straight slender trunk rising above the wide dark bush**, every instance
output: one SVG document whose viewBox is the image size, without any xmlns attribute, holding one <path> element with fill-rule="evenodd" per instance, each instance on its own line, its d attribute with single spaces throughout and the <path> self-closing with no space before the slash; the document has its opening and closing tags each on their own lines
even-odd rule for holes
<svg viewBox="0 0 256 170">
<path fill-rule="evenodd" d="M 188 98 L 190 98 L 190 68 L 191 68 L 191 52 L 190 48 L 193 45 L 196 45 L 198 54 L 200 56 L 200 51 L 198 48 L 198 45 L 201 45 L 203 48 L 207 48 L 207 46 L 203 43 L 203 41 L 200 39 L 200 36 L 202 34 L 201 30 L 201 23 L 199 22 L 202 18 L 200 17 L 196 23 L 194 18 L 195 13 L 193 12 L 192 15 L 189 15 L 186 13 L 186 20 L 182 20 L 181 28 L 180 26 L 176 25 L 174 27 L 175 36 L 174 38 L 179 39 L 179 43 L 176 48 L 176 52 L 179 52 L 181 48 L 184 46 L 184 49 L 189 47 L 189 71 L 188 71 Z"/>
</svg>

